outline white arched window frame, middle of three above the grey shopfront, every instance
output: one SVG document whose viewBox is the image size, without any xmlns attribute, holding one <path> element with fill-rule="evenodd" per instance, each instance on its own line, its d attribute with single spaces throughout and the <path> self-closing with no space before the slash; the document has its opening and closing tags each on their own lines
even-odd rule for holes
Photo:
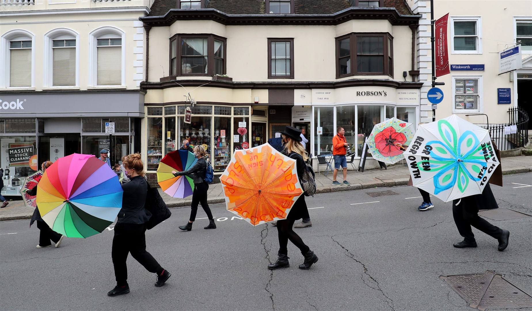
<svg viewBox="0 0 532 311">
<path fill-rule="evenodd" d="M 72 36 L 76 38 L 76 85 L 75 86 L 53 86 L 53 52 L 52 40 L 59 36 Z M 68 28 L 56 28 L 46 32 L 44 35 L 44 62 L 43 62 L 43 88 L 46 89 L 79 89 L 79 34 Z"/>
</svg>

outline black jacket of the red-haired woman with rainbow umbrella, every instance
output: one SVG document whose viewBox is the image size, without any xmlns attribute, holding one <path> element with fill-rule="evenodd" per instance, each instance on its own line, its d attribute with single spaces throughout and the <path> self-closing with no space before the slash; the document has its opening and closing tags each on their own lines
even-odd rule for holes
<svg viewBox="0 0 532 311">
<path fill-rule="evenodd" d="M 118 223 L 144 224 L 152 213 L 144 208 L 148 182 L 143 176 L 132 177 L 129 183 L 122 184 L 122 209 L 118 213 Z"/>
</svg>

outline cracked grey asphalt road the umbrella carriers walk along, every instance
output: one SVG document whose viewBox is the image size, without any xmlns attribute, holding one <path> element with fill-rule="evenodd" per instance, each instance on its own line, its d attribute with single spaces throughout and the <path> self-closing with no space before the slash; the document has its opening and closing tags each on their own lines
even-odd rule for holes
<svg viewBox="0 0 532 311">
<path fill-rule="evenodd" d="M 532 173 L 504 177 L 492 186 L 500 208 L 532 215 Z M 372 198 L 367 193 L 397 195 Z M 37 249 L 39 231 L 29 220 L 0 223 L 2 310 L 471 310 L 439 275 L 503 273 L 532 293 L 532 217 L 495 221 L 511 233 L 508 249 L 473 229 L 478 247 L 462 240 L 451 202 L 418 211 L 417 189 L 408 186 L 328 193 L 307 198 L 313 226 L 295 229 L 319 261 L 297 268 L 303 256 L 288 244 L 290 267 L 269 271 L 277 229 L 252 227 L 212 206 L 218 228 L 182 232 L 189 208 L 148 231 L 148 251 L 172 273 L 156 288 L 155 275 L 128 258 L 129 294 L 107 297 L 114 285 L 112 227 L 88 239 L 65 239 L 60 248 Z M 198 218 L 205 217 L 198 211 Z"/>
</svg>

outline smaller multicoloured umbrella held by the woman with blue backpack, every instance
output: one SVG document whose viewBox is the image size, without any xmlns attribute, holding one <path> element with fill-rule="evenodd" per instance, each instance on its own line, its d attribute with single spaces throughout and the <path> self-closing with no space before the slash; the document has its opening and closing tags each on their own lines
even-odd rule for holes
<svg viewBox="0 0 532 311">
<path fill-rule="evenodd" d="M 157 168 L 157 183 L 172 198 L 186 198 L 194 191 L 194 179 L 189 176 L 173 176 L 172 170 L 184 171 L 197 162 L 194 153 L 176 150 L 167 153 Z"/>
</svg>

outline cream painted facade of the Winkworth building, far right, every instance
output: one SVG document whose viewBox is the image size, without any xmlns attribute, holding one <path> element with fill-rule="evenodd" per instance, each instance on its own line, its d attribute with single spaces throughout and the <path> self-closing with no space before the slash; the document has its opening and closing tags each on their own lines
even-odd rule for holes
<svg viewBox="0 0 532 311">
<path fill-rule="evenodd" d="M 409 1 L 414 13 L 422 15 L 420 27 L 417 32 L 417 63 L 420 68 L 420 81 L 425 81 L 421 88 L 421 122 L 430 122 L 432 113 L 430 103 L 427 101 L 427 91 L 431 87 L 431 50 L 430 50 L 430 1 Z M 485 113 L 490 124 L 503 124 L 509 122 L 508 109 L 518 106 L 518 75 L 532 77 L 532 51 L 522 51 L 523 68 L 499 75 L 498 52 L 516 44 L 516 23 L 532 23 L 532 2 L 530 1 L 435 1 L 435 19 L 449 13 L 447 47 L 449 51 L 449 64 L 468 65 L 479 64 L 484 70 L 452 70 L 448 75 L 440 76 L 437 82 L 444 82 L 444 86 L 437 86 L 444 92 L 444 100 L 438 104 L 436 119 L 442 119 L 451 114 L 464 118 L 474 124 L 486 124 L 485 116 L 466 116 L 466 114 Z M 455 32 L 455 22 L 475 22 L 477 30 L 476 51 L 461 51 L 454 47 L 454 36 L 460 37 Z M 532 34 L 530 34 L 532 35 Z M 521 79 L 521 78 L 519 78 Z M 461 81 L 476 80 L 479 95 L 478 107 L 458 109 L 456 105 L 456 92 L 461 91 Z M 456 85 L 458 81 L 458 86 Z M 467 87 L 466 85 L 463 86 Z M 511 103 L 498 104 L 497 88 L 511 89 Z M 467 92 L 465 89 L 464 92 Z M 461 93 L 460 93 L 461 94 Z M 471 93 L 473 94 L 473 93 Z M 467 96 L 467 93 L 465 93 Z M 527 95 L 529 96 L 529 95 Z M 461 99 L 460 95 L 458 97 Z M 530 114 L 530 113 L 529 113 Z"/>
</svg>

